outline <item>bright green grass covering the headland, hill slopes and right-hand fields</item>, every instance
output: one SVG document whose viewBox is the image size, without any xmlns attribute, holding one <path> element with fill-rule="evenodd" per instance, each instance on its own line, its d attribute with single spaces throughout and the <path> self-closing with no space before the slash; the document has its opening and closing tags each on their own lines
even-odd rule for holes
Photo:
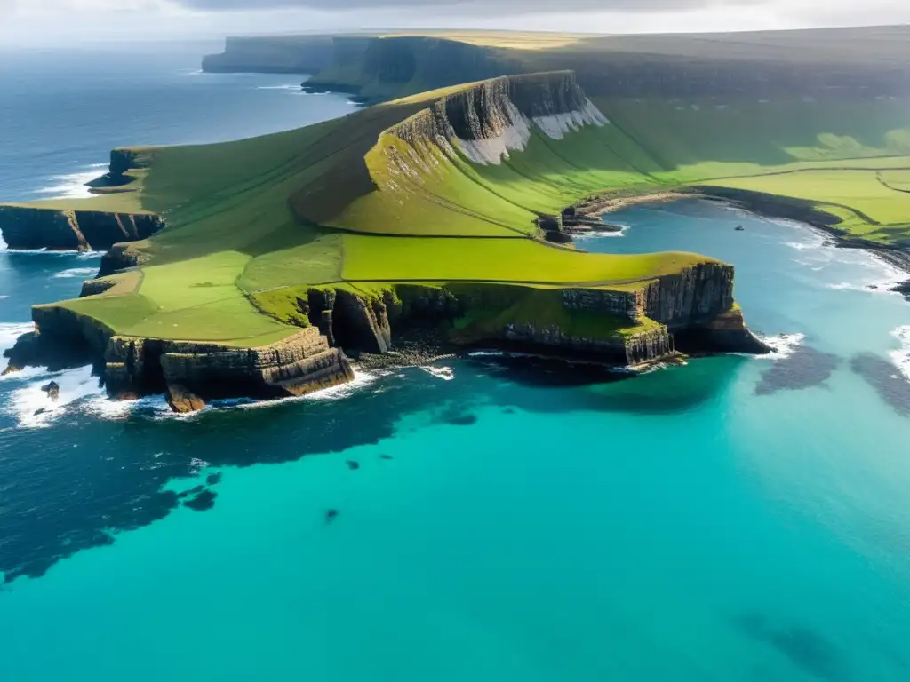
<svg viewBox="0 0 910 682">
<path fill-rule="evenodd" d="M 535 219 L 594 194 L 688 184 L 805 199 L 854 236 L 910 238 L 910 99 L 595 97 L 608 125 L 559 140 L 533 128 L 523 150 L 488 165 L 389 133 L 463 87 L 276 135 L 143 150 L 149 168 L 130 191 L 45 205 L 167 219 L 133 245 L 141 276 L 61 305 L 120 334 L 253 346 L 308 324 L 296 301 L 312 286 L 634 288 L 710 258 L 583 254 L 532 238 Z M 548 296 L 523 296 L 511 315 L 549 309 Z M 498 324 L 499 312 L 471 324 Z"/>
</svg>

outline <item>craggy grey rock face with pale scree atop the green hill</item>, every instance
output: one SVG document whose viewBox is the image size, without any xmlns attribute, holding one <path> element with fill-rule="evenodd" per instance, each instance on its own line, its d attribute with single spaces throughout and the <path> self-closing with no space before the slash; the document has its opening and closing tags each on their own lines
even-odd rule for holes
<svg viewBox="0 0 910 682">
<path fill-rule="evenodd" d="M 436 145 L 446 155 L 458 149 L 474 163 L 499 164 L 510 151 L 524 149 L 535 127 L 561 139 L 583 125 L 607 123 L 575 75 L 562 71 L 484 81 L 440 98 L 387 133 L 411 148 Z M 402 157 L 394 147 L 387 151 L 399 170 L 410 175 L 414 160 Z"/>
</svg>

